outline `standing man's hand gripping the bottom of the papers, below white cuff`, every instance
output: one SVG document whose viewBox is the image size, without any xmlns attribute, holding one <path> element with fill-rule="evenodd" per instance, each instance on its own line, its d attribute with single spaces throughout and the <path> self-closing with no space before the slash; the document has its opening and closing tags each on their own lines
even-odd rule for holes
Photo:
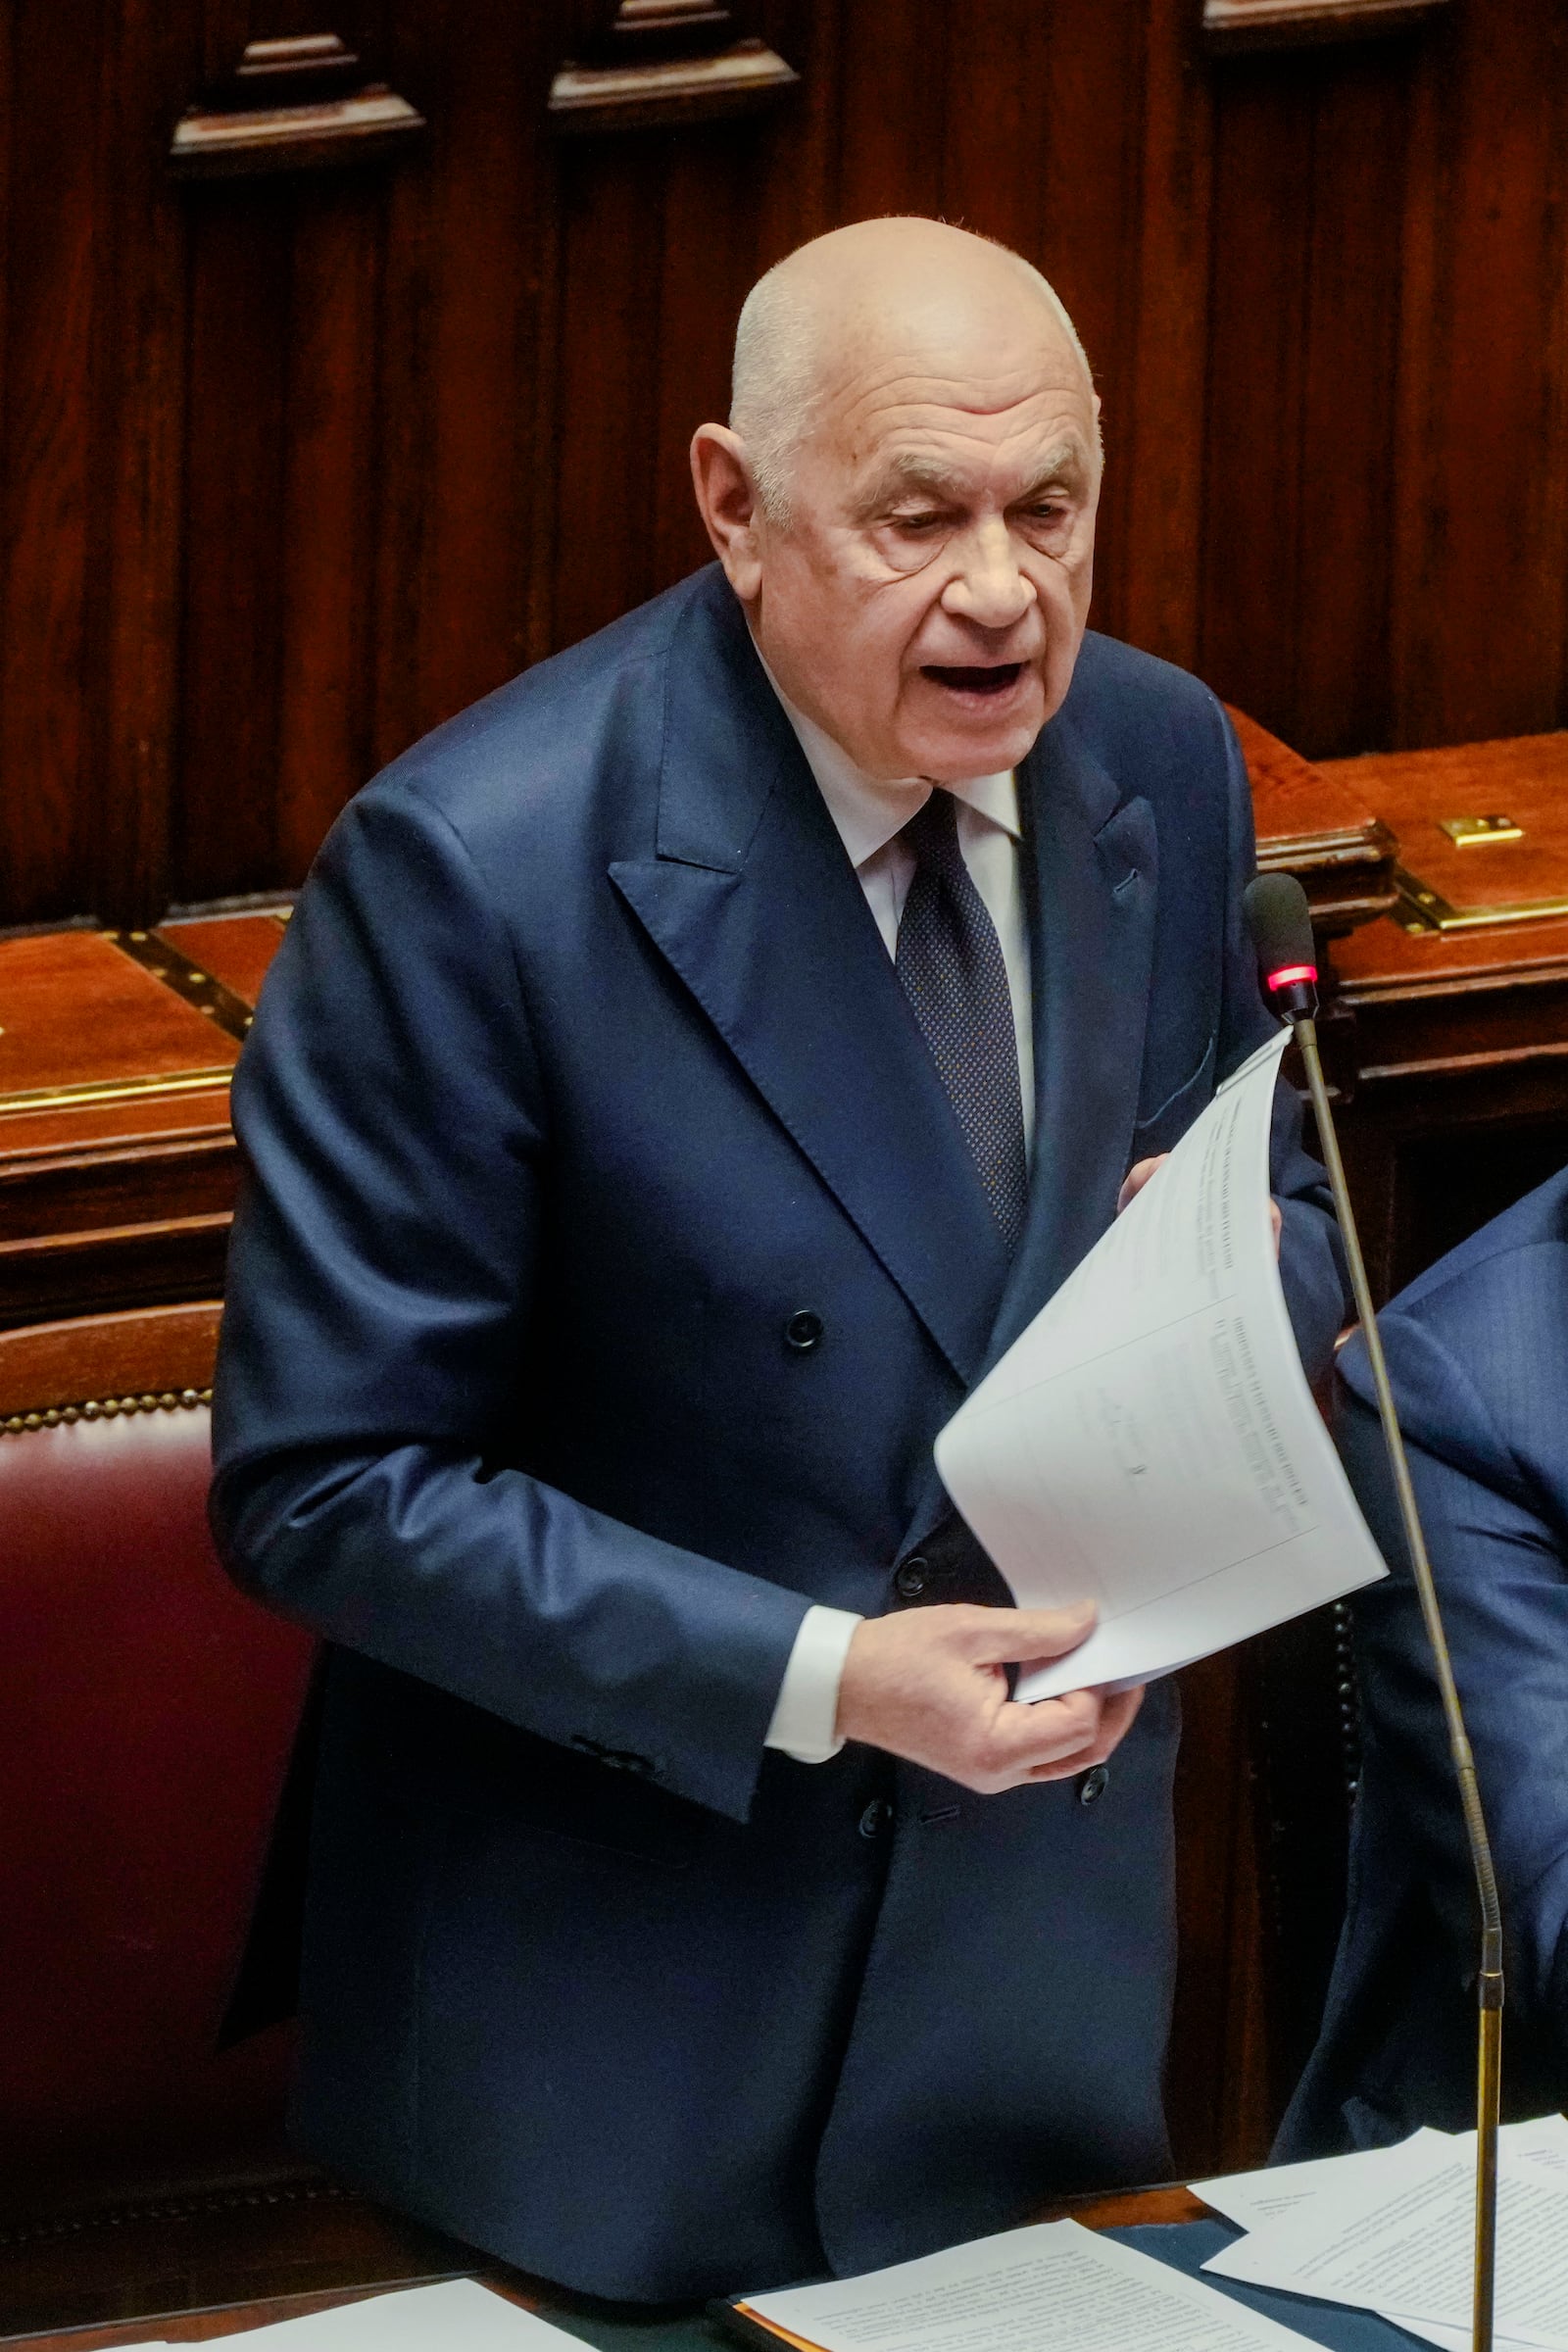
<svg viewBox="0 0 1568 2352">
<path fill-rule="evenodd" d="M 1077 1609 L 905 1609 L 856 1628 L 839 1682 L 839 1736 L 886 1748 L 983 1797 L 1025 1780 L 1070 1780 L 1103 1764 L 1143 1691 L 1067 1691 L 1032 1708 L 1009 1698 L 1009 1665 L 1044 1665 L 1093 1630 Z"/>
</svg>

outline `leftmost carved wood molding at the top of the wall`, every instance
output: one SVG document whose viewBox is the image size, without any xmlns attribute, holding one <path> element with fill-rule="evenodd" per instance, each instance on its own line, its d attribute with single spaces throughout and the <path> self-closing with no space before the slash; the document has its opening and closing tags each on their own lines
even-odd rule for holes
<svg viewBox="0 0 1568 2352">
<path fill-rule="evenodd" d="M 252 40 L 235 71 L 174 125 L 169 172 L 235 179 L 400 155 L 425 118 L 360 71 L 336 33 Z"/>
</svg>

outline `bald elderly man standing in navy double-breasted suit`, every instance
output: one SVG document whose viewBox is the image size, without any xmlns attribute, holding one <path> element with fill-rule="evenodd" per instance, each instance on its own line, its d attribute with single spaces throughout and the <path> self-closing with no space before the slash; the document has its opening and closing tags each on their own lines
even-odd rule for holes
<svg viewBox="0 0 1568 2352">
<path fill-rule="evenodd" d="M 1032 268 L 804 247 L 693 477 L 722 569 L 334 828 L 216 1411 L 226 1555 L 331 1644 L 299 2131 L 628 2298 L 1166 2164 L 1175 1698 L 1013 1703 L 1088 1611 L 997 1606 L 931 1439 L 1267 1033 L 1220 708 L 1084 640 Z M 1316 1364 L 1288 1115 L 1274 1188 Z"/>
</svg>

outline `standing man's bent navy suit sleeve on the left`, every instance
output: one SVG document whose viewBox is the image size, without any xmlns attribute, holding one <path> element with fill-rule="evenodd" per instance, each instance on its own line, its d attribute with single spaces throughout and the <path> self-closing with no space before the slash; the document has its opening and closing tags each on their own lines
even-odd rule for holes
<svg viewBox="0 0 1568 2352">
<path fill-rule="evenodd" d="M 745 1818 L 806 1597 L 498 1465 L 527 1461 L 548 1183 L 529 1040 L 463 842 L 416 788 L 374 786 L 235 1080 L 214 1529 L 329 1639 Z"/>
</svg>

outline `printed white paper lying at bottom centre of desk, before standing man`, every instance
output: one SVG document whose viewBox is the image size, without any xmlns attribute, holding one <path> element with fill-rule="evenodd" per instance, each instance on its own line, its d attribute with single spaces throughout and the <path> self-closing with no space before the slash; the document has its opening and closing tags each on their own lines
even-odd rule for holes
<svg viewBox="0 0 1568 2352">
<path fill-rule="evenodd" d="M 745 2310 L 823 2352 L 1286 2352 L 1295 2328 L 1074 2220 L 1037 2223 Z"/>
</svg>

